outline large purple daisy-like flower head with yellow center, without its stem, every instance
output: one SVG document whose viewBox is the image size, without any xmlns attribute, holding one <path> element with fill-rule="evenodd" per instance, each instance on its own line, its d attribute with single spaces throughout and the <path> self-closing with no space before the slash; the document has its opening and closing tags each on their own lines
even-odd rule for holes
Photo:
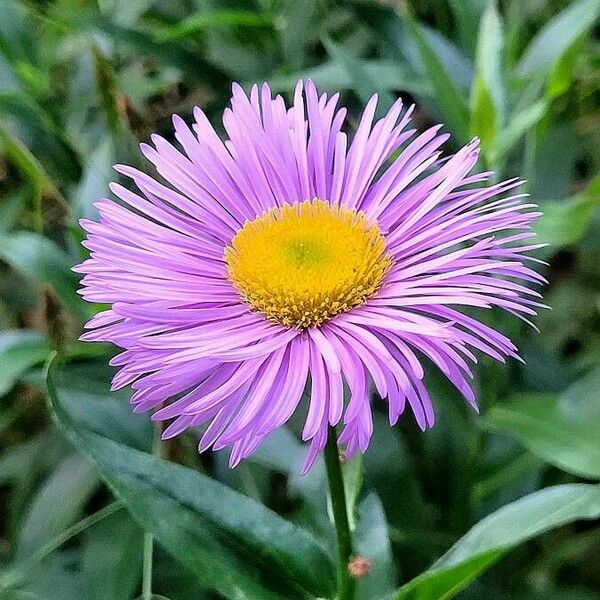
<svg viewBox="0 0 600 600">
<path fill-rule="evenodd" d="M 165 438 L 203 425 L 199 449 L 231 446 L 236 465 L 306 389 L 309 468 L 330 425 L 348 455 L 367 449 L 372 386 L 391 424 L 408 406 L 431 427 L 424 358 L 473 407 L 474 351 L 517 358 L 460 308 L 535 314 L 523 282 L 543 282 L 524 264 L 539 213 L 519 181 L 470 174 L 477 140 L 442 157 L 440 127 L 417 135 L 400 100 L 378 120 L 376 106 L 349 138 L 338 95 L 312 82 L 290 108 L 267 85 L 234 85 L 225 141 L 196 109 L 191 128 L 173 118 L 177 145 L 141 146 L 161 181 L 116 167 L 137 192 L 112 184 L 122 202 L 82 222 L 81 293 L 111 305 L 82 339 L 124 349 L 113 388 L 171 420 Z"/>
</svg>

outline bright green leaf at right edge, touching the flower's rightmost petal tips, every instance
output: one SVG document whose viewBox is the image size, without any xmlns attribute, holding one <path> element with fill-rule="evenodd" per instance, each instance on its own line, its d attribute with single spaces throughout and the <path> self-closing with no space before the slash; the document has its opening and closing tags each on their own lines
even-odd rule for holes
<svg viewBox="0 0 600 600">
<path fill-rule="evenodd" d="M 553 251 L 575 244 L 585 235 L 600 205 L 600 176 L 573 198 L 540 201 L 539 204 L 543 215 L 534 228 L 540 241 L 550 244 Z"/>
</svg>

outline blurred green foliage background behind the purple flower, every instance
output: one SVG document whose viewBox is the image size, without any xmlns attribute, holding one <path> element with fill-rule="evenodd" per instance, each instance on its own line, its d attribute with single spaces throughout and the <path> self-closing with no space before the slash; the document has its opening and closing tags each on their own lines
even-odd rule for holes
<svg viewBox="0 0 600 600">
<path fill-rule="evenodd" d="M 526 362 L 481 360 L 481 415 L 434 372 L 432 431 L 410 418 L 390 429 L 376 404 L 354 498 L 359 544 L 375 556 L 361 596 L 383 598 L 507 502 L 600 479 L 600 0 L 488 4 L 0 0 L 0 598 L 139 594 L 139 520 L 110 504 L 96 467 L 52 424 L 42 367 L 60 350 L 59 391 L 77 414 L 149 447 L 147 419 L 108 393 L 114 351 L 76 341 L 95 310 L 70 271 L 84 257 L 77 222 L 95 215 L 114 163 L 147 169 L 137 144 L 155 131 L 172 137 L 173 113 L 189 120 L 199 105 L 218 127 L 233 80 L 268 81 L 289 97 L 310 77 L 342 92 L 350 127 L 371 94 L 382 111 L 402 96 L 419 128 L 446 124 L 447 151 L 478 135 L 481 167 L 525 178 L 545 213 L 538 229 L 550 245 L 539 258 L 552 310 L 536 319 L 539 333 L 486 315 Z M 291 433 L 233 472 L 223 455 L 198 457 L 193 436 L 166 451 L 330 535 L 319 467 L 297 475 Z M 571 523 L 512 550 L 459 597 L 598 598 L 599 553 L 598 524 Z M 223 597 L 197 575 L 157 551 L 157 593 Z"/>
</svg>

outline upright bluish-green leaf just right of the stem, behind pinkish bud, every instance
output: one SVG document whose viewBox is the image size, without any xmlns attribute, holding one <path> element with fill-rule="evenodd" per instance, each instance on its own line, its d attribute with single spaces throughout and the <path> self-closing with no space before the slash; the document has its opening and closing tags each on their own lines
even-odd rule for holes
<svg viewBox="0 0 600 600">
<path fill-rule="evenodd" d="M 354 538 L 356 552 L 371 563 L 370 573 L 357 582 L 358 597 L 364 600 L 385 597 L 394 591 L 396 566 L 383 506 L 374 493 L 368 494 L 358 506 Z"/>
</svg>

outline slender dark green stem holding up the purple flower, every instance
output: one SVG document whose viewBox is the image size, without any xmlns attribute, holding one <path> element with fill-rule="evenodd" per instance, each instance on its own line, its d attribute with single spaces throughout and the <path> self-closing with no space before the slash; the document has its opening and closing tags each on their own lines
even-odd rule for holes
<svg viewBox="0 0 600 600">
<path fill-rule="evenodd" d="M 337 537 L 338 600 L 353 600 L 355 582 L 348 571 L 348 563 L 352 557 L 352 533 L 350 532 L 350 524 L 348 522 L 344 478 L 342 476 L 342 465 L 334 427 L 330 427 L 327 432 L 325 467 Z"/>
</svg>

